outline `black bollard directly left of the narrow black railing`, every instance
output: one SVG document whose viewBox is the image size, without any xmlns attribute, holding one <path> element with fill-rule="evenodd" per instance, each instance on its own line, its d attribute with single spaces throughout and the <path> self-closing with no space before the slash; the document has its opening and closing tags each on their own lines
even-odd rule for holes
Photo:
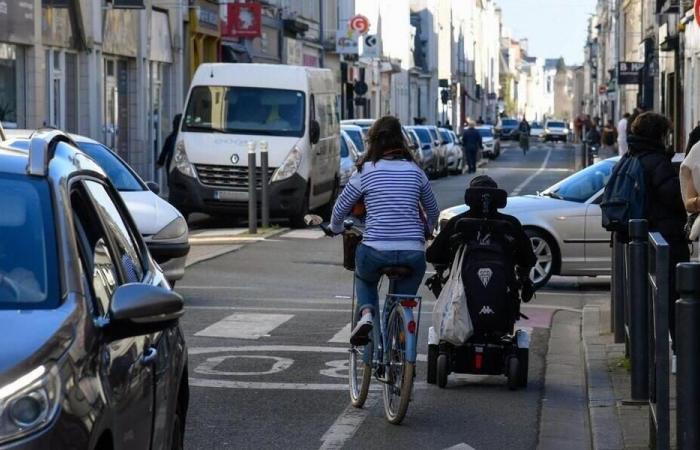
<svg viewBox="0 0 700 450">
<path fill-rule="evenodd" d="M 646 220 L 630 220 L 627 245 L 629 285 L 627 305 L 631 360 L 631 396 L 649 399 L 648 283 L 649 229 Z"/>
</svg>

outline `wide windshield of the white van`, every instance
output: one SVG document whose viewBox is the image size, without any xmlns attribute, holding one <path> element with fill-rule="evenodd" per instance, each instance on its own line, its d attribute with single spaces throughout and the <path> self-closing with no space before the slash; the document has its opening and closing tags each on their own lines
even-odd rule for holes
<svg viewBox="0 0 700 450">
<path fill-rule="evenodd" d="M 182 131 L 304 135 L 304 93 L 239 86 L 192 89 Z"/>
</svg>

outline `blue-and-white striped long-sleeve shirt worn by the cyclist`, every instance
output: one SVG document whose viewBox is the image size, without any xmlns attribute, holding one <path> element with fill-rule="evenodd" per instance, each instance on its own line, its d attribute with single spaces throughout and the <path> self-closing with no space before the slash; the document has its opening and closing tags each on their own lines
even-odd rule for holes
<svg viewBox="0 0 700 450">
<path fill-rule="evenodd" d="M 365 245 L 380 251 L 425 249 L 426 227 L 433 229 L 440 211 L 428 178 L 415 163 L 365 163 L 362 171 L 350 178 L 333 208 L 334 232 L 343 230 L 343 221 L 360 199 L 367 210 Z"/>
</svg>

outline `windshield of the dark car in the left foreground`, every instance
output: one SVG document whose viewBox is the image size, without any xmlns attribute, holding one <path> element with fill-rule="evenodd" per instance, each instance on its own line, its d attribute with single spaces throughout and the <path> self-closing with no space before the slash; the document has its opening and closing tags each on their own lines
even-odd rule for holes
<svg viewBox="0 0 700 450">
<path fill-rule="evenodd" d="M 58 254 L 45 179 L 0 175 L 0 309 L 58 306 Z"/>
</svg>

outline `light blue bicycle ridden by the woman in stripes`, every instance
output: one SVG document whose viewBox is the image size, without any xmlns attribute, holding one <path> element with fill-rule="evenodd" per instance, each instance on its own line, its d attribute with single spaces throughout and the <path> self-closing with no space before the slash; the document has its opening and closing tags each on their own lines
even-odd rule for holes
<svg viewBox="0 0 700 450">
<path fill-rule="evenodd" d="M 318 225 L 329 236 L 334 234 L 318 216 L 307 216 L 307 224 Z M 362 230 L 349 220 L 343 234 L 362 237 Z M 346 268 L 349 266 L 346 265 Z M 354 266 L 353 266 L 354 270 Z M 374 326 L 368 344 L 349 349 L 350 402 L 362 408 L 367 400 L 372 376 L 383 384 L 384 415 L 389 423 L 398 425 L 406 416 L 416 375 L 418 331 L 420 329 L 421 297 L 394 294 L 396 282 L 411 275 L 403 266 L 381 269 L 382 277 L 389 279 L 389 290 L 382 307 L 379 326 Z M 418 308 L 418 318 L 413 310 Z M 355 326 L 359 314 L 355 310 L 355 277 L 352 286 L 350 323 Z M 375 343 L 377 344 L 375 346 Z"/>
</svg>

